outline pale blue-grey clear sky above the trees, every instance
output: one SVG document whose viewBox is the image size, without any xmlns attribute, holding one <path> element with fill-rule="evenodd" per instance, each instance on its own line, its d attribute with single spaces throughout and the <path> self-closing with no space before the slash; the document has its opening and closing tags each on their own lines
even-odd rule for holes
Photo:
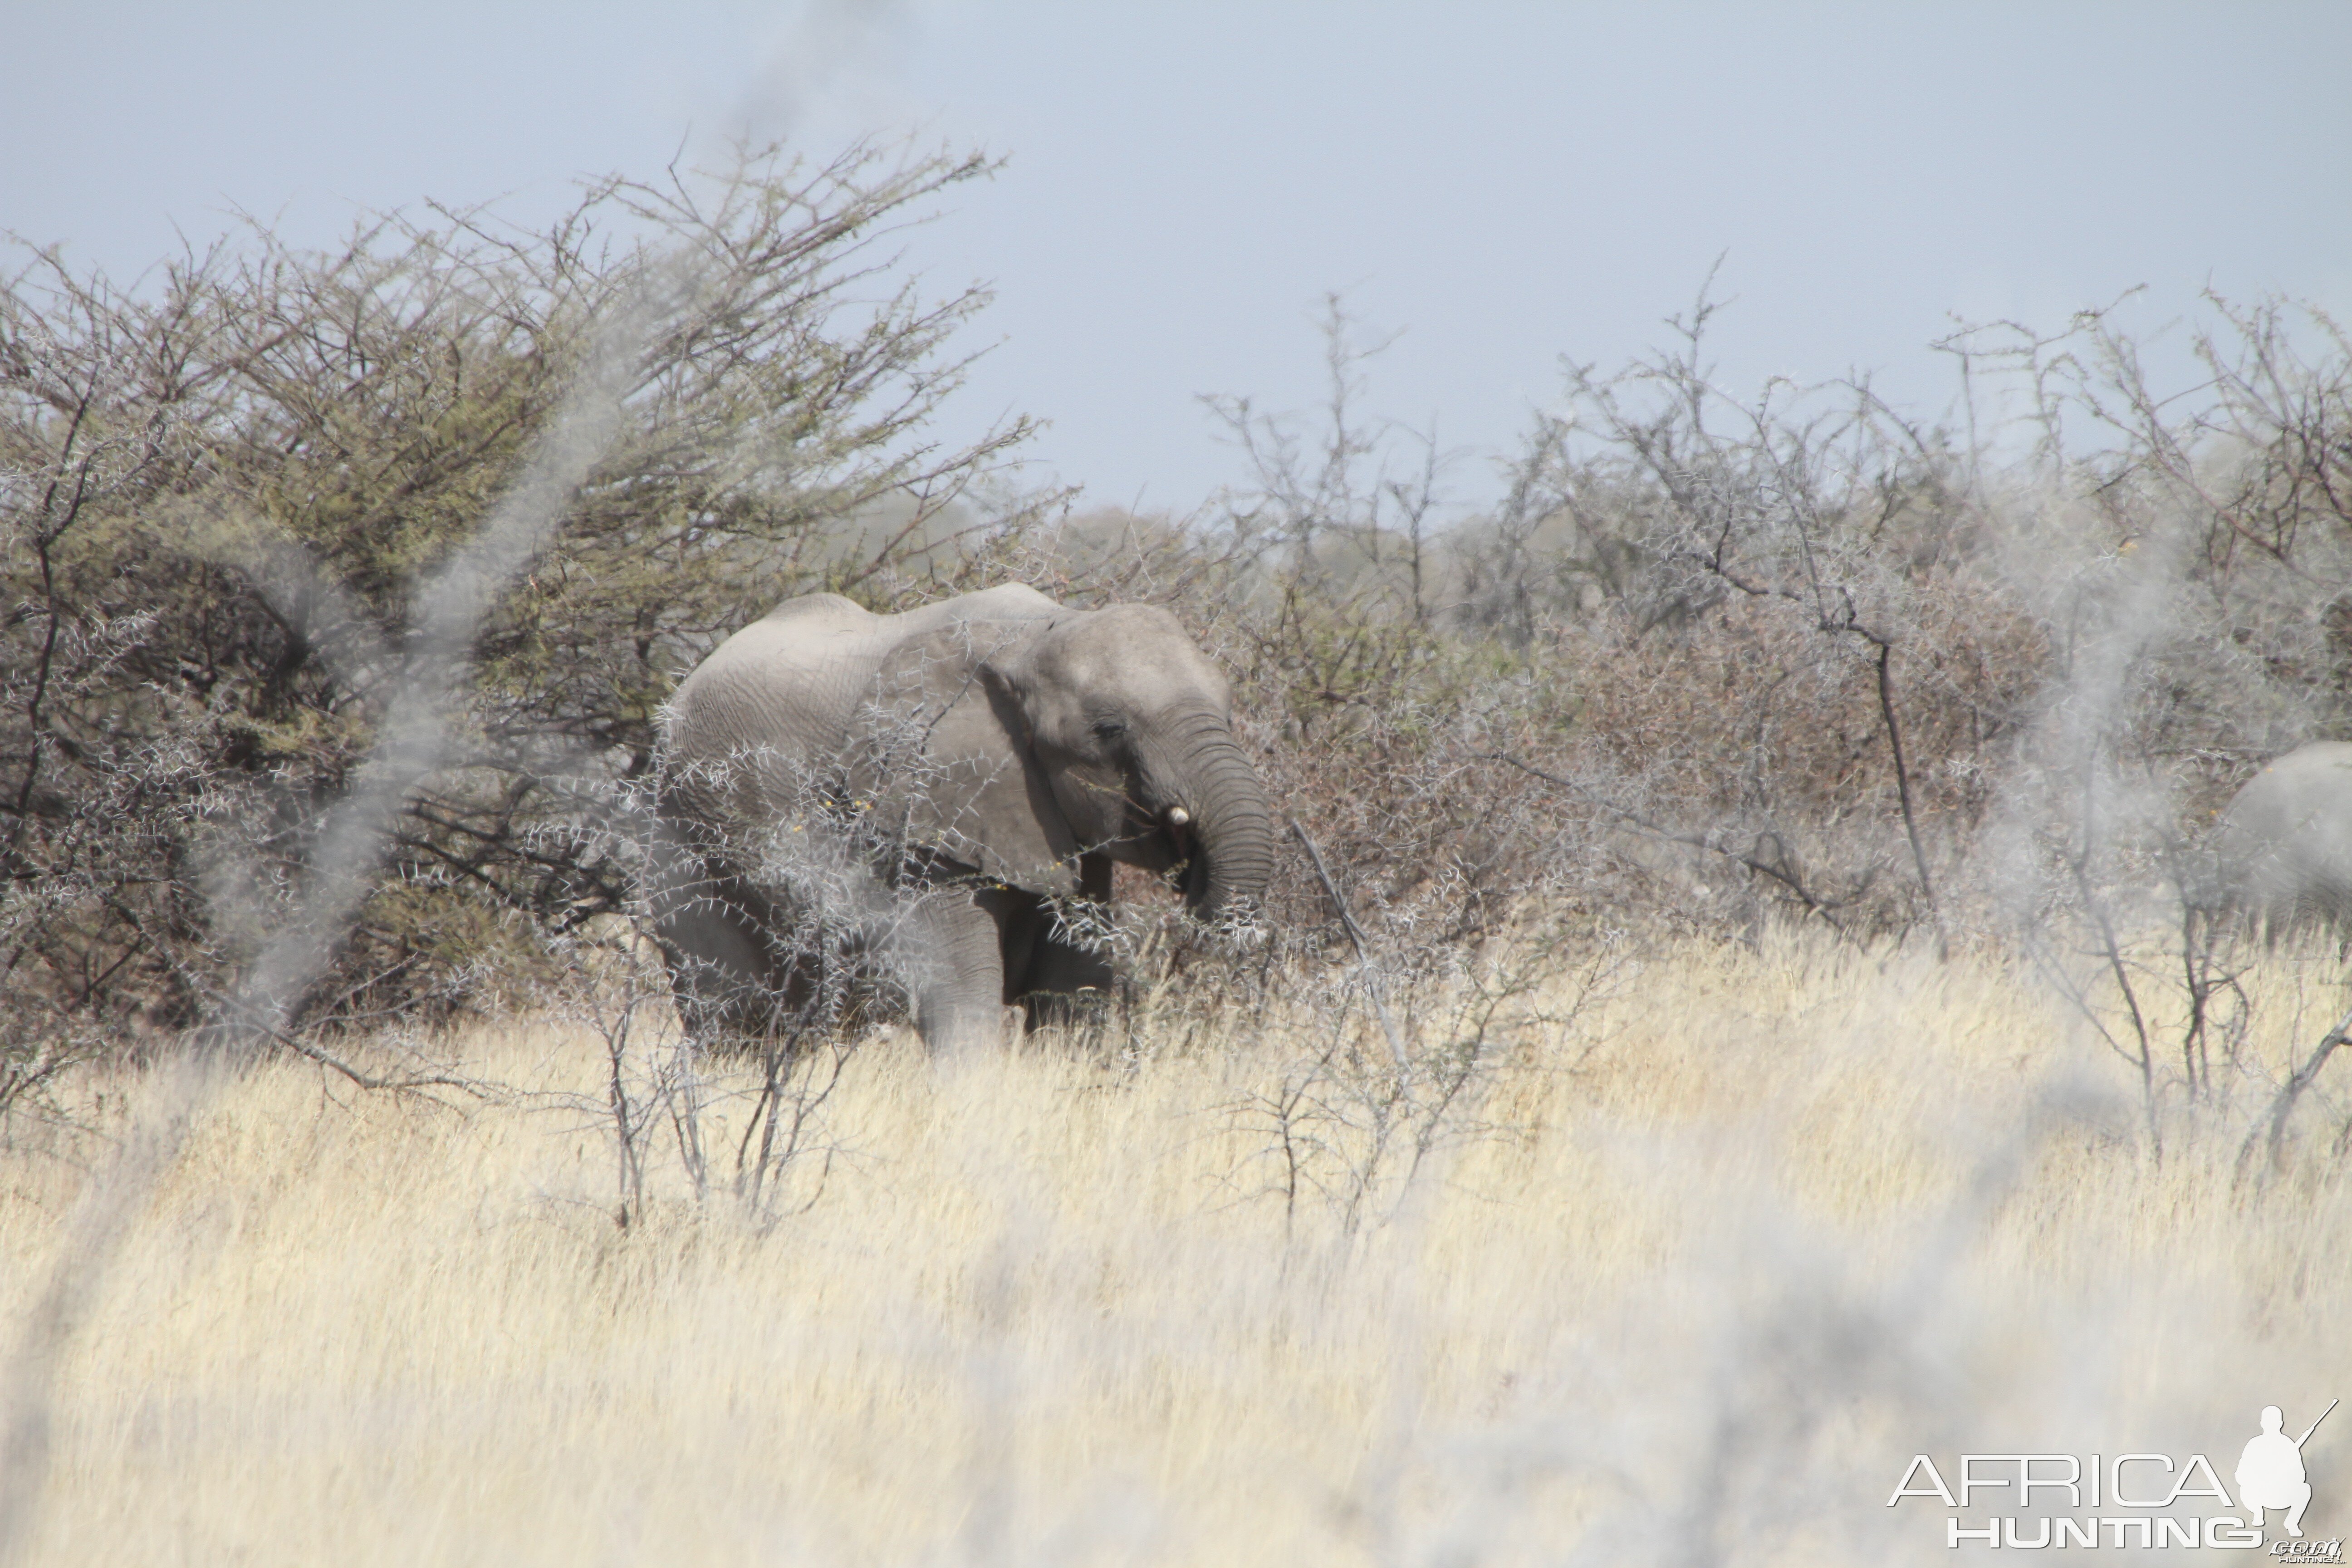
<svg viewBox="0 0 2352 1568">
<path fill-rule="evenodd" d="M 950 433 L 1037 414 L 1044 465 L 1176 510 L 1240 477 L 1195 395 L 1315 397 L 1324 289 L 1402 331 L 1376 409 L 1472 451 L 1559 355 L 1663 341 L 1717 254 L 1724 381 L 1872 369 L 1922 411 L 1950 313 L 2133 284 L 2150 331 L 2206 284 L 2352 313 L 2343 0 L 5 0 L 0 38 L 0 228 L 115 273 L 230 205 L 315 240 L 426 195 L 532 216 L 743 127 L 1007 153 L 913 240 L 941 289 L 997 289 Z"/>
</svg>

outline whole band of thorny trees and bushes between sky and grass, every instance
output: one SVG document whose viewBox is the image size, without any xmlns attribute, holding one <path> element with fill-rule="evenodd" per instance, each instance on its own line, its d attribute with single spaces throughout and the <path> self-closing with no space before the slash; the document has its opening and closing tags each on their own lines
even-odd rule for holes
<svg viewBox="0 0 2352 1568">
<path fill-rule="evenodd" d="M 1962 334 L 1964 386 L 2025 416 L 1926 425 L 1860 386 L 1710 386 L 1700 303 L 1653 362 L 1571 371 L 1496 494 L 1449 505 L 1425 444 L 1355 416 L 1334 308 L 1327 414 L 1225 407 L 1247 473 L 1218 503 L 1070 512 L 1004 468 L 1023 423 L 929 435 L 983 296 L 880 249 L 983 172 L 767 155 L 602 183 L 546 233 L 437 212 L 313 254 L 254 228 L 136 287 L 26 254 L 0 287 L 0 1103 L 216 1006 L 376 743 L 414 585 L 616 322 L 619 435 L 487 618 L 306 1027 L 560 980 L 543 936 L 630 907 L 616 816 L 661 701 L 818 588 L 1167 604 L 1357 922 L 1432 964 L 1538 912 L 2112 964 L 2237 780 L 2352 736 L 2352 346 L 2317 313 L 2213 301 L 2211 386 L 2178 404 L 2098 315 Z M 1331 898 L 1303 856 L 1277 879 L 1282 952 L 1341 940 Z"/>
</svg>

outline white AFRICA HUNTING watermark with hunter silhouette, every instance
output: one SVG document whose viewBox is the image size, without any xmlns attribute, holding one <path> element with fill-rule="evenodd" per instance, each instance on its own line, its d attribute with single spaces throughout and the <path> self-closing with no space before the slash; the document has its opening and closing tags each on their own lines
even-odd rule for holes
<svg viewBox="0 0 2352 1568">
<path fill-rule="evenodd" d="M 2340 1563 L 2343 1540 L 2303 1540 L 2303 1509 L 2312 1502 L 2303 1450 L 2338 1403 L 2331 1399 L 2303 1436 L 2286 1432 L 2286 1413 L 2279 1406 L 2263 1406 L 2263 1429 L 2237 1460 L 2234 1502 L 2216 1465 L 2201 1453 L 2185 1460 L 2166 1453 L 1964 1453 L 1950 1481 L 1936 1469 L 1936 1460 L 1917 1453 L 1886 1507 L 1905 1497 L 1936 1497 L 1952 1509 L 1945 1519 L 1945 1547 L 1983 1542 L 2027 1552 L 2046 1547 L 2258 1552 L 2265 1544 L 2263 1523 L 2270 1509 L 2281 1509 L 2286 1540 L 2270 1542 L 2270 1556 L 2284 1563 Z M 1966 1509 L 1992 1502 L 1976 1495 L 1985 1490 L 2011 1512 L 1997 1519 L 1978 1516 L 1973 1528 L 1964 1526 Z M 2194 1519 L 2180 1516 L 2206 1497 L 2209 1512 Z M 2091 1516 L 2079 1516 L 2084 1512 Z"/>
</svg>

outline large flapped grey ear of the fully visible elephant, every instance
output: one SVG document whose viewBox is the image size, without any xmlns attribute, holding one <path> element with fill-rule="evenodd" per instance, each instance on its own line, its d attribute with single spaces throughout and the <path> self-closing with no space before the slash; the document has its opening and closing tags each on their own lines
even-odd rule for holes
<svg viewBox="0 0 2352 1568">
<path fill-rule="evenodd" d="M 1037 893 L 1077 893 L 1077 835 L 1002 677 L 1042 628 L 953 623 L 901 644 L 861 712 L 851 785 L 908 846 Z"/>
</svg>

